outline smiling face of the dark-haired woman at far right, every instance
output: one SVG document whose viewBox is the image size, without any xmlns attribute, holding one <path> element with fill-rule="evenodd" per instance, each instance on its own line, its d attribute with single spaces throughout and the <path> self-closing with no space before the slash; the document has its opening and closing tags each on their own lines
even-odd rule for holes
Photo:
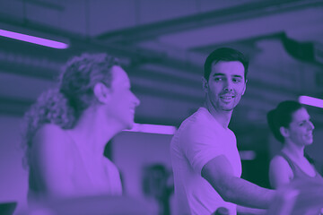
<svg viewBox="0 0 323 215">
<path fill-rule="evenodd" d="M 314 125 L 304 107 L 292 113 L 292 122 L 288 130 L 290 139 L 297 145 L 306 146 L 313 142 Z"/>
</svg>

